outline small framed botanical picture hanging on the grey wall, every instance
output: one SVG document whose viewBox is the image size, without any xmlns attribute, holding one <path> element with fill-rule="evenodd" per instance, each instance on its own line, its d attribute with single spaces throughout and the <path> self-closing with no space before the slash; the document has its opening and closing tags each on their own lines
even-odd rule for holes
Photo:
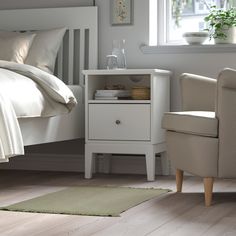
<svg viewBox="0 0 236 236">
<path fill-rule="evenodd" d="M 131 25 L 133 22 L 133 0 L 111 0 L 111 25 Z"/>
</svg>

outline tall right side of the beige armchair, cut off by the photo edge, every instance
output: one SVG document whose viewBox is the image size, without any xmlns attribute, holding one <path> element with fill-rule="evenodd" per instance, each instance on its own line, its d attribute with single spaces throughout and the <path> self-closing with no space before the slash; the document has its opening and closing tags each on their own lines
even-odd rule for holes
<svg viewBox="0 0 236 236">
<path fill-rule="evenodd" d="M 219 177 L 236 177 L 236 70 L 218 76 L 216 116 L 219 119 Z"/>
</svg>

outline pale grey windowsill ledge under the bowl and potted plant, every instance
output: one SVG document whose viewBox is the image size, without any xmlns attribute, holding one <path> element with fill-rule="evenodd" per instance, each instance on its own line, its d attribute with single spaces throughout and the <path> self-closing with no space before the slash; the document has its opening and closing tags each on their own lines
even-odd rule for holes
<svg viewBox="0 0 236 236">
<path fill-rule="evenodd" d="M 142 45 L 140 50 L 144 54 L 236 53 L 236 44 Z"/>
</svg>

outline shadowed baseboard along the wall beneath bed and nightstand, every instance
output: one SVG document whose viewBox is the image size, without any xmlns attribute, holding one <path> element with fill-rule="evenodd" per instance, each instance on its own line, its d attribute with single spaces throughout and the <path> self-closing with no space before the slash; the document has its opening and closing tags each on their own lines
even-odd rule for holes
<svg viewBox="0 0 236 236">
<path fill-rule="evenodd" d="M 107 170 L 103 155 L 96 158 L 95 170 L 99 173 L 114 174 L 146 174 L 144 156 L 112 155 Z M 1 163 L 0 169 L 41 170 L 41 171 L 73 171 L 84 172 L 84 155 L 82 154 L 45 154 L 34 153 L 13 157 L 8 163 Z M 156 157 L 156 174 L 161 175 L 161 160 Z"/>
</svg>

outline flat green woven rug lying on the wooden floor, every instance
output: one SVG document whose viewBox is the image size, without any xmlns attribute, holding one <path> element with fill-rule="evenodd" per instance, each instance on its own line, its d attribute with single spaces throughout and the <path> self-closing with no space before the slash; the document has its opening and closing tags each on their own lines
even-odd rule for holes
<svg viewBox="0 0 236 236">
<path fill-rule="evenodd" d="M 1 210 L 54 214 L 119 216 L 165 189 L 78 186 L 2 207 Z"/>
</svg>

